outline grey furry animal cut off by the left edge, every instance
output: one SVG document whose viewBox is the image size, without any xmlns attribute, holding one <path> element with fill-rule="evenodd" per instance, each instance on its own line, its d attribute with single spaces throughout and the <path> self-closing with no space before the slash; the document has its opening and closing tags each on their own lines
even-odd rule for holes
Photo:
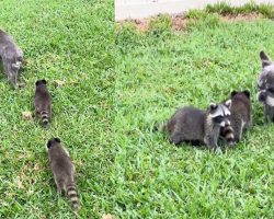
<svg viewBox="0 0 274 219">
<path fill-rule="evenodd" d="M 0 56 L 9 81 L 14 88 L 18 88 L 18 74 L 19 70 L 22 68 L 23 51 L 16 46 L 13 37 L 2 30 L 0 30 Z"/>
</svg>

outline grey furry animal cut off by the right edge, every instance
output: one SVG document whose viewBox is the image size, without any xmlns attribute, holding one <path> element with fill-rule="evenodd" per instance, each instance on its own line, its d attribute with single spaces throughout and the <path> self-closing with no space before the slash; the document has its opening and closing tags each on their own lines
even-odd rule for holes
<svg viewBox="0 0 274 219">
<path fill-rule="evenodd" d="M 274 62 L 264 51 L 260 53 L 262 71 L 258 79 L 258 100 L 264 104 L 264 117 L 266 123 L 274 120 Z"/>
</svg>

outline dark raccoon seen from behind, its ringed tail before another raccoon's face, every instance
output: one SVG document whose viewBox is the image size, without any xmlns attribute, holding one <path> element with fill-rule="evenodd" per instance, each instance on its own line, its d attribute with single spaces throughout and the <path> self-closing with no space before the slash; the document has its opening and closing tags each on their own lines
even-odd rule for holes
<svg viewBox="0 0 274 219">
<path fill-rule="evenodd" d="M 226 138 L 230 146 L 239 142 L 242 134 L 251 126 L 251 103 L 248 90 L 230 94 L 230 126 L 221 128 L 221 136 Z"/>
</svg>

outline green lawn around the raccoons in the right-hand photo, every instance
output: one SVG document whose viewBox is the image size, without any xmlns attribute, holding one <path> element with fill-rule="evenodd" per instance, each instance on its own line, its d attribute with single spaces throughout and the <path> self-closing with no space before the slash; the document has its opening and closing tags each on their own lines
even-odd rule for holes
<svg viewBox="0 0 274 219">
<path fill-rule="evenodd" d="M 255 97 L 259 53 L 274 58 L 273 21 L 224 22 L 206 14 L 172 31 L 171 20 L 160 16 L 147 32 L 126 23 L 117 25 L 116 35 L 115 215 L 273 218 L 274 125 L 263 125 Z M 178 107 L 206 108 L 246 89 L 254 126 L 236 149 L 175 147 L 152 131 Z"/>
</svg>

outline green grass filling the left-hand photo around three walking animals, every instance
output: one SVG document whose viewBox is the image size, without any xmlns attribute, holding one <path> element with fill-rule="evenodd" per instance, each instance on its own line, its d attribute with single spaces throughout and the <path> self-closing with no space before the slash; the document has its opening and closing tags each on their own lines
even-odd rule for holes
<svg viewBox="0 0 274 219">
<path fill-rule="evenodd" d="M 113 209 L 107 176 L 113 94 L 113 3 L 100 0 L 0 2 L 0 26 L 24 50 L 23 89 L 14 91 L 0 73 L 0 218 L 73 218 L 58 197 L 46 141 L 61 138 L 76 164 L 79 218 L 101 218 Z M 45 78 L 53 122 L 23 120 L 33 112 L 34 84 Z M 65 84 L 55 88 L 54 81 Z"/>
</svg>

